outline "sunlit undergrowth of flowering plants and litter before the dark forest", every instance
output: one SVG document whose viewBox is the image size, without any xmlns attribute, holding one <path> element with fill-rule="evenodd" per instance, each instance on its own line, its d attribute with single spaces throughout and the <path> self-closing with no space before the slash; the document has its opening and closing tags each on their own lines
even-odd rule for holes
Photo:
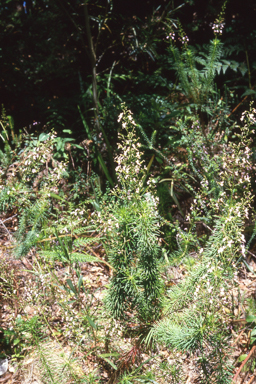
<svg viewBox="0 0 256 384">
<path fill-rule="evenodd" d="M 181 356 L 189 356 L 194 382 L 231 383 L 234 292 L 241 266 L 250 269 L 256 233 L 246 243 L 256 111 L 251 106 L 238 124 L 220 117 L 227 108 L 221 100 L 214 107 L 216 34 L 209 58 L 200 58 L 179 26 L 184 48 L 172 43 L 170 51 L 191 100 L 164 148 L 121 106 L 117 183 L 105 192 L 96 176 L 80 177 L 70 147 L 65 155 L 66 139 L 15 136 L 3 113 L 0 210 L 16 227 L 1 226 L 13 255 L 27 256 L 27 264 L 17 280 L 17 261 L 10 270 L 10 260 L 0 259 L 7 314 L 0 343 L 23 382 L 180 384 L 188 382 Z M 136 129 L 162 159 L 160 176 L 154 156 L 143 160 Z M 164 218 L 161 183 L 175 203 Z"/>
</svg>

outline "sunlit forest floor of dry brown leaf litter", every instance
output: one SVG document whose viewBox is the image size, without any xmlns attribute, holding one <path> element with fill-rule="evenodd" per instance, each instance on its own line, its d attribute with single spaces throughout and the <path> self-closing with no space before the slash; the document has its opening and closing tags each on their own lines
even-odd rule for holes
<svg viewBox="0 0 256 384">
<path fill-rule="evenodd" d="M 156 348 L 153 352 L 136 351 L 132 327 L 130 332 L 128 329 L 124 333 L 117 322 L 112 321 L 110 323 L 109 319 L 104 320 L 103 296 L 111 277 L 111 270 L 106 264 L 80 263 L 83 284 L 86 288 L 80 294 L 80 300 L 81 303 L 84 302 L 87 305 L 86 313 L 90 313 L 88 318 L 98 318 L 98 322 L 101 323 L 101 330 L 97 331 L 94 327 L 95 320 L 91 320 L 92 336 L 83 341 L 82 337 L 81 343 L 78 345 L 77 340 L 80 337 L 80 328 L 84 324 L 82 317 L 85 316 L 85 312 L 79 308 L 79 303 L 71 303 L 72 289 L 71 291 L 64 289 L 68 286 L 69 279 L 73 281 L 74 285 L 77 282 L 74 271 L 70 271 L 60 262 L 51 264 L 44 262 L 36 250 L 31 251 L 27 257 L 17 260 L 12 256 L 12 248 L 12 241 L 3 235 L 0 241 L 0 353 L 1 355 L 5 353 L 8 356 L 8 366 L 6 372 L 1 371 L 1 362 L 3 364 L 5 360 L 1 360 L 0 357 L 1 384 L 41 384 L 46 382 L 42 378 L 38 348 L 33 346 L 31 340 L 26 341 L 28 332 L 26 329 L 24 330 L 24 327 L 17 328 L 17 319 L 23 318 L 29 321 L 35 316 L 45 320 L 44 332 L 48 340 L 45 348 L 48 348 L 50 354 L 55 354 L 55 356 L 50 357 L 53 360 L 51 363 L 53 368 L 54 364 L 58 364 L 58 361 L 55 363 L 54 359 L 59 358 L 61 360 L 63 355 L 69 360 L 71 355 L 75 358 L 72 366 L 76 378 L 67 377 L 65 382 L 62 381 L 63 384 L 84 382 L 82 381 L 84 376 L 88 380 L 85 381 L 86 383 L 118 383 L 117 372 L 121 373 L 127 362 L 131 365 L 133 359 L 135 368 L 144 362 L 143 370 L 152 371 L 156 382 L 159 384 L 199 383 L 196 356 L 174 354 L 161 347 Z M 104 257 L 101 248 L 98 247 L 97 252 L 99 256 Z M 252 249 L 247 263 L 251 271 L 254 272 L 248 271 L 243 266 L 238 274 L 237 287 L 232 292 L 235 305 L 233 308 L 234 321 L 230 326 L 233 347 L 232 360 L 235 365 L 234 376 L 244 364 L 243 356 L 247 356 L 250 351 L 253 352 L 234 381 L 236 384 L 256 383 L 256 354 L 253 346 L 250 345 L 250 330 L 245 321 L 245 306 L 248 305 L 248 301 L 256 299 L 256 259 L 253 252 Z M 38 276 L 41 278 L 41 285 L 39 285 Z M 170 286 L 180 281 L 182 276 L 181 267 L 169 267 L 165 270 L 163 277 L 166 285 Z M 54 290 L 55 293 L 53 293 Z M 76 319 L 67 313 L 67 305 L 69 305 L 71 312 L 72 308 L 75 311 Z M 89 312 L 88 308 L 90 309 Z M 81 315 L 81 313 L 83 314 Z M 72 324 L 74 324 L 74 329 L 71 330 Z M 8 329 L 16 329 L 16 333 L 11 334 L 9 339 L 9 343 L 16 343 L 16 347 L 7 345 L 3 330 Z M 20 333 L 17 329 L 20 330 Z M 106 338 L 106 334 L 108 338 Z M 49 342 L 49 340 L 51 341 Z M 117 359 L 115 356 L 119 358 Z M 185 374 L 181 375 L 180 379 L 177 376 L 175 381 L 175 372 L 171 367 L 177 363 Z M 134 383 L 136 382 L 134 381 Z"/>
</svg>

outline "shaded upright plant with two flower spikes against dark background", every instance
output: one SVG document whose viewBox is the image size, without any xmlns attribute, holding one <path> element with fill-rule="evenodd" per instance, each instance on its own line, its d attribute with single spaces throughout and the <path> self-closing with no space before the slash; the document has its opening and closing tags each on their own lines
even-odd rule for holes
<svg viewBox="0 0 256 384">
<path fill-rule="evenodd" d="M 200 126 L 204 134 L 209 119 L 212 120 L 218 115 L 216 100 L 216 75 L 222 68 L 221 56 L 223 43 L 218 39 L 224 27 L 223 13 L 226 2 L 223 4 L 222 11 L 212 26 L 215 38 L 208 45 L 191 46 L 188 44 L 189 38 L 186 36 L 180 21 L 178 25 L 167 25 L 170 40 L 169 52 L 173 59 L 170 60 L 171 68 L 176 71 L 176 82 L 174 87 L 180 93 L 184 101 L 177 106 L 185 116 L 198 114 Z M 178 46 L 181 43 L 181 48 Z M 203 48 L 203 49 L 202 49 Z"/>
</svg>

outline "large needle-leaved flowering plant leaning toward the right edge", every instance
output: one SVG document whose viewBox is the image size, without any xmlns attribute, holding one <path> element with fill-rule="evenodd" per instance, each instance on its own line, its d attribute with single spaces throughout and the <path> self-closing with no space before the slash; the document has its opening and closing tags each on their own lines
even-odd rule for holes
<svg viewBox="0 0 256 384">
<path fill-rule="evenodd" d="M 183 241 L 193 233 L 196 236 L 196 224 L 207 217 L 211 218 L 209 234 L 206 239 L 197 238 L 197 245 L 194 241 L 194 249 L 200 247 L 194 265 L 169 290 L 164 303 L 166 315 L 152 330 L 156 339 L 170 348 L 196 352 L 202 383 L 230 383 L 232 376 L 230 292 L 238 263 L 246 255 L 244 230 L 253 199 L 249 135 L 255 110 L 245 112 L 241 121 L 245 124 L 236 140 L 227 142 L 212 157 L 215 184 L 207 174 L 201 174 L 201 186 L 186 217 L 188 234 L 180 230 L 178 235 Z M 188 256 L 188 251 L 183 252 L 184 258 Z"/>
</svg>

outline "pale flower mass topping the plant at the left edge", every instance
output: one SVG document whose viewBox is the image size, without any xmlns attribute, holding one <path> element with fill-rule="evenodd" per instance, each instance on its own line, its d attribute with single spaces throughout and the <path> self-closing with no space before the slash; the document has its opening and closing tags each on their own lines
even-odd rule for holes
<svg viewBox="0 0 256 384">
<path fill-rule="evenodd" d="M 58 193 L 58 184 L 67 176 L 67 163 L 53 159 L 55 133 L 29 137 L 14 161 L 0 166 L 0 210 L 12 205 L 22 210 L 31 205 L 31 199 L 46 191 Z"/>
</svg>

